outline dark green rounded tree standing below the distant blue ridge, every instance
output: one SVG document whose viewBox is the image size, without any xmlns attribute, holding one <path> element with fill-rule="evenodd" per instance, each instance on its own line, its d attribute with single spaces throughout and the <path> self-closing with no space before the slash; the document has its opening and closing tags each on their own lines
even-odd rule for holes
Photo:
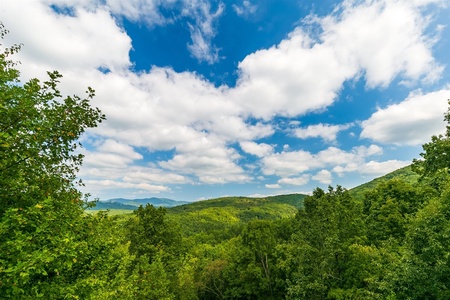
<svg viewBox="0 0 450 300">
<path fill-rule="evenodd" d="M 127 223 L 132 267 L 138 287 L 136 299 L 171 299 L 178 289 L 177 274 L 184 252 L 179 226 L 169 220 L 166 209 L 147 204 L 134 211 Z"/>
</svg>

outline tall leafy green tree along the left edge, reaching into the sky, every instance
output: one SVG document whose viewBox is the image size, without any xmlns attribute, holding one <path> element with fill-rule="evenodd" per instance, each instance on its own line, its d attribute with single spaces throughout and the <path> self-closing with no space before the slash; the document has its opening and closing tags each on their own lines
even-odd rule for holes
<svg viewBox="0 0 450 300">
<path fill-rule="evenodd" d="M 85 215 L 75 182 L 78 139 L 105 116 L 90 106 L 91 88 L 63 98 L 56 71 L 22 83 L 10 58 L 21 46 L 0 46 L 0 295 L 89 298 L 114 278 L 123 253 L 101 234 L 108 219 Z"/>
</svg>

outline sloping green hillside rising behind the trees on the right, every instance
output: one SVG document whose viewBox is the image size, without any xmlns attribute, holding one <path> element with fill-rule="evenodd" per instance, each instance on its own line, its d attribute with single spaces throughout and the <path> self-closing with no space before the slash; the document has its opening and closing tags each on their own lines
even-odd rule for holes
<svg viewBox="0 0 450 300">
<path fill-rule="evenodd" d="M 384 176 L 375 178 L 372 181 L 363 183 L 353 189 L 350 190 L 350 194 L 356 198 L 356 199 L 363 199 L 364 198 L 364 194 L 367 191 L 370 191 L 372 189 L 374 189 L 377 185 L 379 185 L 382 182 L 388 181 L 392 178 L 398 178 L 398 179 L 402 179 L 408 183 L 416 183 L 417 180 L 419 179 L 419 175 L 415 172 L 412 171 L 411 169 L 411 165 L 400 168 L 398 170 L 395 170 L 391 173 L 388 173 Z"/>
</svg>

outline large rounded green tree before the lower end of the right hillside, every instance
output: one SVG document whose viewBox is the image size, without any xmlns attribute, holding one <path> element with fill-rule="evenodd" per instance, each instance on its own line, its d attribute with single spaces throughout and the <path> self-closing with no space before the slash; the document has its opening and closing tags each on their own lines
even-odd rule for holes
<svg viewBox="0 0 450 300">
<path fill-rule="evenodd" d="M 296 215 L 287 260 L 295 270 L 289 280 L 289 299 L 329 299 L 336 289 L 351 286 L 346 278 L 351 245 L 360 242 L 360 208 L 347 190 L 320 188 L 305 198 Z M 287 265 L 287 264 L 285 264 Z"/>
</svg>

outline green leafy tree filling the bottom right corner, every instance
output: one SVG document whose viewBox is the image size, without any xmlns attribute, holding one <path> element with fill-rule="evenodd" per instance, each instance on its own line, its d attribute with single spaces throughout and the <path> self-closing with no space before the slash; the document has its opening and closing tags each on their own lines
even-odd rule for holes
<svg viewBox="0 0 450 300">
<path fill-rule="evenodd" d="M 412 218 L 401 264 L 390 278 L 397 299 L 450 297 L 450 189 Z"/>
</svg>

